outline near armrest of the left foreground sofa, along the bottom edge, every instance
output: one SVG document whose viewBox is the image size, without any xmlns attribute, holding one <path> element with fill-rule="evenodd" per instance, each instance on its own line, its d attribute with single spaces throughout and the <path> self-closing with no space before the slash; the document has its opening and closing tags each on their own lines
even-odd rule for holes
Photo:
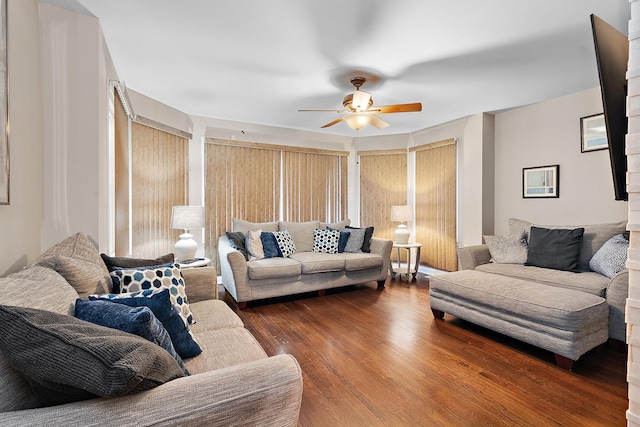
<svg viewBox="0 0 640 427">
<path fill-rule="evenodd" d="M 300 366 L 282 354 L 128 396 L 0 413 L 0 425 L 296 426 L 301 401 Z"/>
</svg>

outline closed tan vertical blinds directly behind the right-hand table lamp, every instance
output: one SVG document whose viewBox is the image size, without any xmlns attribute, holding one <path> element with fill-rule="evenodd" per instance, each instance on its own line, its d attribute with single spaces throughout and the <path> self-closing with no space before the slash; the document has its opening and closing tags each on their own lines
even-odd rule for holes
<svg viewBox="0 0 640 427">
<path fill-rule="evenodd" d="M 407 204 L 407 151 L 360 151 L 360 224 L 393 240 L 391 206 Z"/>
</svg>

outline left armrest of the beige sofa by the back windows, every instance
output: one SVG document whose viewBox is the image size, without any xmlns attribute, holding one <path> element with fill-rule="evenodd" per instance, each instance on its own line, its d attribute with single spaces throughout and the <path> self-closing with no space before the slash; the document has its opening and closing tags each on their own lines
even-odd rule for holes
<svg viewBox="0 0 640 427">
<path fill-rule="evenodd" d="M 239 250 L 231 246 L 227 236 L 220 236 L 218 239 L 218 257 L 225 291 L 229 292 L 236 302 L 251 301 L 247 260 Z"/>
</svg>

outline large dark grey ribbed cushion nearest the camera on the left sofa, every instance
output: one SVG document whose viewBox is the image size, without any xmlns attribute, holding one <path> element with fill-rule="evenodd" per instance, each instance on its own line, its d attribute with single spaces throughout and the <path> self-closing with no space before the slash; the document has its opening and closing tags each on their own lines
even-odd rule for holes
<svg viewBox="0 0 640 427">
<path fill-rule="evenodd" d="M 0 306 L 0 352 L 43 405 L 149 390 L 184 376 L 144 338 L 31 308 Z"/>
</svg>

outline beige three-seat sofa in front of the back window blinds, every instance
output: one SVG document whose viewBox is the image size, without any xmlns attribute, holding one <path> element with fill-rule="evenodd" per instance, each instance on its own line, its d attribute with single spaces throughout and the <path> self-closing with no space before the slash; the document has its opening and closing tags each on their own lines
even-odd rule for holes
<svg viewBox="0 0 640 427">
<path fill-rule="evenodd" d="M 245 235 L 250 231 L 283 231 L 291 234 L 296 252 L 288 257 L 247 261 L 226 235 L 218 240 L 222 285 L 241 309 L 248 302 L 266 298 L 320 291 L 376 281 L 384 287 L 389 273 L 393 242 L 371 238 L 370 252 L 313 252 L 315 229 L 345 230 L 349 220 L 327 224 L 319 221 L 273 221 L 251 223 L 233 219 L 232 231 Z M 346 229 L 345 231 L 349 231 Z"/>
</svg>

